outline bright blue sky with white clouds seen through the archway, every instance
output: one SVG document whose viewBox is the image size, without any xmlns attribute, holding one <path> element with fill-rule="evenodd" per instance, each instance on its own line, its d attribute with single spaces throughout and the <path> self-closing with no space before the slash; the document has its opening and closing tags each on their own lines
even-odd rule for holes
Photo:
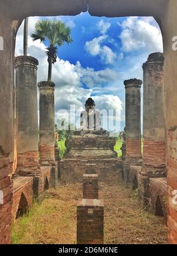
<svg viewBox="0 0 177 256">
<path fill-rule="evenodd" d="M 28 37 L 28 54 L 40 63 L 38 81 L 47 79 L 47 44 L 32 42 L 30 33 L 41 18 L 52 17 L 30 17 Z M 158 24 L 152 17 L 91 17 L 87 12 L 57 19 L 71 27 L 73 43 L 58 48 L 58 60 L 53 66 L 56 120 L 65 116 L 61 109 L 68 110 L 71 104 L 79 113 L 91 96 L 98 109 L 121 111 L 123 129 L 123 80 L 142 79 L 142 64 L 148 55 L 163 51 Z M 22 54 L 22 39 L 23 24 L 17 34 L 16 55 Z"/>
</svg>

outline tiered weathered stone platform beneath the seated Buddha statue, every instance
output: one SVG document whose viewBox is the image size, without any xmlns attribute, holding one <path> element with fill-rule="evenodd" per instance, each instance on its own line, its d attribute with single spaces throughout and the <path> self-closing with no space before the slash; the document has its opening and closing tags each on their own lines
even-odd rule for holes
<svg viewBox="0 0 177 256">
<path fill-rule="evenodd" d="M 114 151 L 115 137 L 108 135 L 87 134 L 73 136 L 65 145 L 67 154 L 60 161 L 61 182 L 71 179 L 80 180 L 85 173 L 86 164 L 96 164 L 96 174 L 99 180 L 117 176 L 122 168 L 122 160 L 117 158 Z"/>
</svg>

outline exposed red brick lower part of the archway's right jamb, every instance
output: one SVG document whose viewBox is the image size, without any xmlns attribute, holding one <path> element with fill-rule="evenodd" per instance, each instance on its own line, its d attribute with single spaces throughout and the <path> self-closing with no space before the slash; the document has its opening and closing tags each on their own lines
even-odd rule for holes
<svg viewBox="0 0 177 256">
<path fill-rule="evenodd" d="M 168 131 L 168 239 L 177 244 L 177 127 Z"/>
</svg>

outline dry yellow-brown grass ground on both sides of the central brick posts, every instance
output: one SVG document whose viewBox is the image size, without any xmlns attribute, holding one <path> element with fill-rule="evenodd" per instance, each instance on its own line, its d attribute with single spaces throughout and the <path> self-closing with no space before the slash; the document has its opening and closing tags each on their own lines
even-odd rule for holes
<svg viewBox="0 0 177 256">
<path fill-rule="evenodd" d="M 76 244 L 76 205 L 82 184 L 47 190 L 40 205 L 15 220 L 13 244 Z M 136 191 L 126 189 L 118 177 L 100 182 L 104 199 L 105 244 L 166 244 L 166 223 L 140 208 Z"/>
</svg>

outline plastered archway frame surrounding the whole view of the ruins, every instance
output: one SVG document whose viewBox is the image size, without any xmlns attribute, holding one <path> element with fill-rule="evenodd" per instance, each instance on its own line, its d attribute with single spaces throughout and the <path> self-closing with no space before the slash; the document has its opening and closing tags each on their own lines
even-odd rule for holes
<svg viewBox="0 0 177 256">
<path fill-rule="evenodd" d="M 74 3 L 74 4 L 73 4 Z M 17 8 L 19 7 L 19 8 Z M 0 116 L 4 122 L 1 123 L 0 137 L 0 163 L 4 166 L 4 160 L 9 158 L 11 163 L 13 153 L 14 125 L 14 48 L 15 35 L 18 27 L 25 17 L 30 16 L 55 16 L 55 15 L 77 15 L 81 11 L 89 9 L 90 15 L 106 17 L 124 16 L 152 16 L 158 22 L 163 36 L 163 48 L 165 56 L 165 112 L 166 112 L 166 142 L 168 163 L 168 193 L 171 215 L 169 216 L 169 242 L 177 243 L 173 226 L 177 225 L 172 216 L 175 208 L 172 206 L 172 191 L 177 187 L 173 166 L 177 168 L 177 157 L 173 157 L 177 146 L 177 51 L 172 50 L 172 38 L 177 35 L 177 1 L 176 0 L 2 0 L 0 10 L 0 35 L 4 39 L 4 51 L 1 51 L 0 63 Z M 9 135 L 7 137 L 7 135 Z M 6 138 L 6 140 L 4 140 Z M 0 173 L 3 180 L 10 173 L 11 168 L 7 166 L 4 173 Z"/>
</svg>

